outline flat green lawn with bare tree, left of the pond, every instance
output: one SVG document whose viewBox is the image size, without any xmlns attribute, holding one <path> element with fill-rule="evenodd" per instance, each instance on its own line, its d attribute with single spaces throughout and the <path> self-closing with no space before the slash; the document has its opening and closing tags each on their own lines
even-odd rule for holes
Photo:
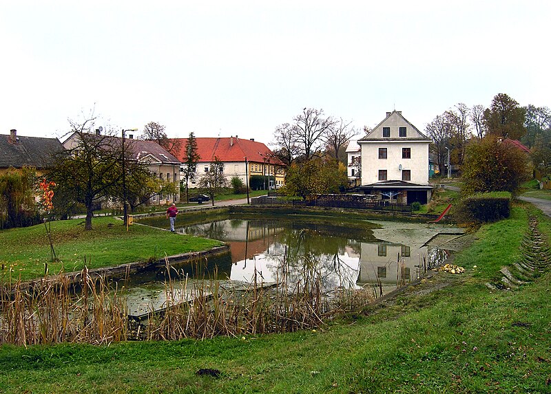
<svg viewBox="0 0 551 394">
<path fill-rule="evenodd" d="M 166 221 L 168 228 L 168 221 Z M 5 278 L 12 269 L 12 278 L 25 281 L 42 276 L 48 263 L 50 274 L 82 270 L 84 258 L 88 268 L 98 268 L 162 259 L 184 252 L 206 250 L 219 241 L 184 234 L 130 226 L 112 217 L 96 217 L 93 230 L 84 230 L 84 219 L 52 222 L 54 248 L 60 261 L 50 263 L 50 243 L 43 225 L 0 231 L 0 263 Z"/>
</svg>

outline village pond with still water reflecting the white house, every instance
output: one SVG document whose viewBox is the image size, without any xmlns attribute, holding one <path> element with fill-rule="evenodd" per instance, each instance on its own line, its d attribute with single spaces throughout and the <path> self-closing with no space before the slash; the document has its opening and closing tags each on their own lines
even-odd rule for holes
<svg viewBox="0 0 551 394">
<path fill-rule="evenodd" d="M 164 217 L 141 223 L 167 227 Z M 441 228 L 424 223 L 232 216 L 176 227 L 180 233 L 228 243 L 231 256 L 210 265 L 218 267 L 218 279 L 239 283 L 277 283 L 283 274 L 296 283 L 311 270 L 324 291 L 368 288 L 380 296 L 419 278 L 450 253 L 427 245 Z M 189 267 L 186 273 L 193 279 Z"/>
</svg>

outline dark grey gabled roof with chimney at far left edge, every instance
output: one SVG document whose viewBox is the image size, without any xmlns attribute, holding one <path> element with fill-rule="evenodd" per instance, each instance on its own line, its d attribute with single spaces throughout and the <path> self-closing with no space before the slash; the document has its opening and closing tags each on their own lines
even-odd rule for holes
<svg viewBox="0 0 551 394">
<path fill-rule="evenodd" d="M 52 154 L 63 151 L 57 138 L 18 136 L 12 141 L 10 135 L 0 135 L 0 168 L 37 169 L 48 168 L 53 164 Z"/>
</svg>

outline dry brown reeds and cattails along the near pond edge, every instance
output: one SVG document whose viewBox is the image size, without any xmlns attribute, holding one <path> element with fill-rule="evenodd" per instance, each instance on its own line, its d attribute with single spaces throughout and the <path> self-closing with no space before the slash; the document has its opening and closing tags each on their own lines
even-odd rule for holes
<svg viewBox="0 0 551 394">
<path fill-rule="evenodd" d="M 165 267 L 165 307 L 147 318 L 128 316 L 125 291 L 105 278 L 81 272 L 78 286 L 66 276 L 45 277 L 32 289 L 4 283 L 0 295 L 0 343 L 19 345 L 123 340 L 178 340 L 284 333 L 324 325 L 344 310 L 372 300 L 367 292 L 337 289 L 322 292 L 315 264 L 305 265 L 300 279 L 289 280 L 284 259 L 277 285 L 267 286 L 255 271 L 245 289 L 222 287 L 209 276 L 205 259 L 194 261 L 198 281 Z"/>
</svg>

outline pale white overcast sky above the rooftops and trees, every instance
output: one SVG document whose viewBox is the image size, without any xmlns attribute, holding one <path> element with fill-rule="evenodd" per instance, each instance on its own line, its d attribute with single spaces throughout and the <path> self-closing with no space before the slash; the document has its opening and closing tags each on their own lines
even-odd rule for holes
<svg viewBox="0 0 551 394">
<path fill-rule="evenodd" d="M 0 0 L 0 134 L 61 138 L 94 109 L 269 143 L 304 107 L 422 131 L 498 93 L 551 107 L 550 20 L 547 0 Z"/>
</svg>

